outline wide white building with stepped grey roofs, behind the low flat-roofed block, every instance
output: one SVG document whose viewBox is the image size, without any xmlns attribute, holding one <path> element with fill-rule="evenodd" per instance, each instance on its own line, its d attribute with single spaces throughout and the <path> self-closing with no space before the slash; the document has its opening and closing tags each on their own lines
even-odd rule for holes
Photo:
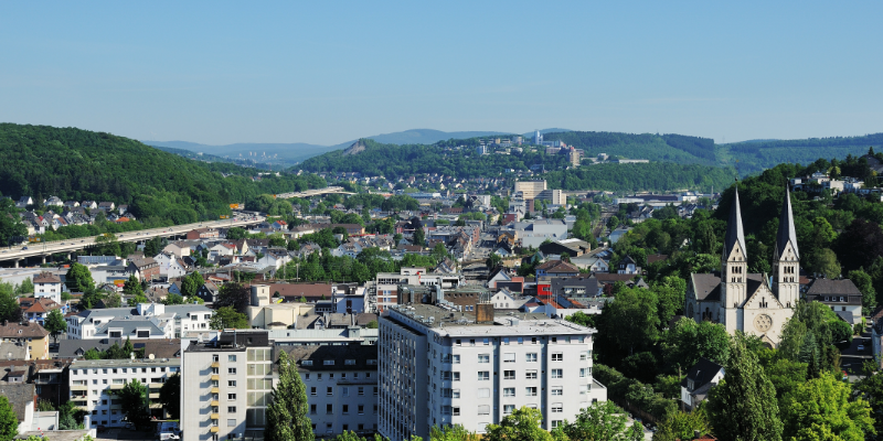
<svg viewBox="0 0 883 441">
<path fill-rule="evenodd" d="M 212 310 L 202 304 L 139 303 L 137 308 L 86 310 L 67 316 L 67 338 L 180 338 L 209 330 Z"/>
</svg>

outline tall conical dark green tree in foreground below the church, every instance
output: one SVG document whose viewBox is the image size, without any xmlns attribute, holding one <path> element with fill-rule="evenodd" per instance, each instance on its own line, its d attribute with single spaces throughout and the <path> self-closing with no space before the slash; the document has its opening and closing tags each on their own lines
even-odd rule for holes
<svg viewBox="0 0 883 441">
<path fill-rule="evenodd" d="M 709 420 L 721 441 L 780 441 L 781 421 L 776 390 L 746 337 L 731 338 L 726 376 L 711 389 Z"/>
</svg>

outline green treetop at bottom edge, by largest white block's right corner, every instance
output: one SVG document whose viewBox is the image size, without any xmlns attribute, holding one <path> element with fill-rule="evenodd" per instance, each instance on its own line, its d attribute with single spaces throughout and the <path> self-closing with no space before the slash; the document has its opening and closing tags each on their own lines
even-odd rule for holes
<svg viewBox="0 0 883 441">
<path fill-rule="evenodd" d="M 631 429 L 623 409 L 613 401 L 596 401 L 576 415 L 574 422 L 564 423 L 567 438 L 581 441 L 629 441 Z M 643 430 L 641 430 L 641 439 Z"/>
</svg>

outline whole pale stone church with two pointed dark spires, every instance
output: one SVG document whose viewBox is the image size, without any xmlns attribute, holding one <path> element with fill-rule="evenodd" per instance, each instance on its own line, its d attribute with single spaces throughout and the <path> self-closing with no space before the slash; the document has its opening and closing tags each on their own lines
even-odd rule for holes
<svg viewBox="0 0 883 441">
<path fill-rule="evenodd" d="M 698 322 L 721 323 L 731 334 L 738 330 L 757 335 L 776 347 L 781 340 L 781 329 L 794 315 L 800 295 L 799 258 L 791 198 L 786 186 L 773 251 L 773 277 L 748 273 L 736 189 L 721 254 L 721 272 L 690 275 L 684 313 Z"/>
</svg>

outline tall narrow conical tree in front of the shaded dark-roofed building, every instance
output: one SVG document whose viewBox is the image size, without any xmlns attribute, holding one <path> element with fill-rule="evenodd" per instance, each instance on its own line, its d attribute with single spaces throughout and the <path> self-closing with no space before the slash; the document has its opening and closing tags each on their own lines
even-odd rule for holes
<svg viewBox="0 0 883 441">
<path fill-rule="evenodd" d="M 279 352 L 279 380 L 273 388 L 267 408 L 267 441 L 311 441 L 312 423 L 307 415 L 307 387 L 300 380 L 295 362 Z"/>
</svg>

